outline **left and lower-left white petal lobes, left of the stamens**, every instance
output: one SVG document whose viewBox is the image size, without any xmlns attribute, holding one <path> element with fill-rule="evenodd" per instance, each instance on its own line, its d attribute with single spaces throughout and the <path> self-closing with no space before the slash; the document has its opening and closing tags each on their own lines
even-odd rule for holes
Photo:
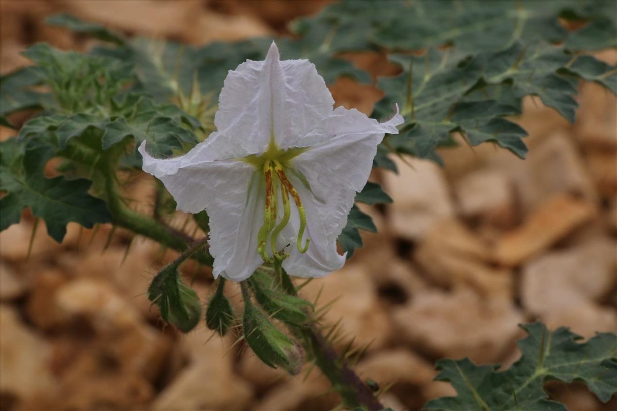
<svg viewBox="0 0 617 411">
<path fill-rule="evenodd" d="M 204 161 L 189 155 L 159 159 L 139 147 L 143 169 L 160 179 L 186 213 L 210 216 L 213 275 L 241 281 L 262 264 L 257 232 L 263 224 L 264 189 L 255 169 L 236 160 Z"/>
</svg>

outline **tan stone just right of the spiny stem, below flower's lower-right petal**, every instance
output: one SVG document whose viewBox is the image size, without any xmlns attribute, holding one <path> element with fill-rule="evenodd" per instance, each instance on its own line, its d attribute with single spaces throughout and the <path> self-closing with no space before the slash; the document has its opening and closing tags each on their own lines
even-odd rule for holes
<svg viewBox="0 0 617 411">
<path fill-rule="evenodd" d="M 391 327 L 365 267 L 347 264 L 340 271 L 310 282 L 300 291 L 300 296 L 311 302 L 317 295 L 320 295 L 315 306 L 317 310 L 330 304 L 323 316 L 324 324 L 341 320 L 344 338 L 339 341 L 339 348 L 355 338 L 355 346 L 370 343 L 373 350 L 389 339 Z"/>
</svg>

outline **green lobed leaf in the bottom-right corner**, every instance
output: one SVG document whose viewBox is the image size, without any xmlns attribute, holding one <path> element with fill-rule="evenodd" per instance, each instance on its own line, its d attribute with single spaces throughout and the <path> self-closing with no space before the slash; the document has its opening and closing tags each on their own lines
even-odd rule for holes
<svg viewBox="0 0 617 411">
<path fill-rule="evenodd" d="M 617 393 L 615 334 L 597 333 L 579 343 L 581 337 L 568 328 L 550 332 L 540 323 L 521 327 L 529 334 L 518 341 L 523 356 L 505 371 L 469 359 L 439 360 L 436 380 L 452 383 L 458 395 L 433 399 L 424 409 L 566 411 L 565 405 L 549 401 L 543 389 L 547 380 L 582 381 L 603 402 Z"/>
</svg>

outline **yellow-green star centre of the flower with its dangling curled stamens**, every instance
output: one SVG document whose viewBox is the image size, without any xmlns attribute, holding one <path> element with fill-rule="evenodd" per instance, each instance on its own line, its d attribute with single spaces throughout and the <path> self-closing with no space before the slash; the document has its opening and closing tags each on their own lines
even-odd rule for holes
<svg viewBox="0 0 617 411">
<path fill-rule="evenodd" d="M 257 168 L 257 173 L 263 173 L 265 181 L 265 203 L 263 206 L 263 225 L 257 234 L 257 252 L 262 256 L 263 261 L 273 262 L 274 259 L 283 261 L 288 254 L 283 250 L 277 250 L 276 239 L 281 231 L 289 223 L 291 216 L 291 204 L 289 197 L 296 204 L 300 218 L 300 226 L 298 229 L 296 247 L 300 253 L 306 253 L 309 249 L 310 238 L 306 238 L 302 245 L 302 237 L 307 225 L 307 216 L 300 195 L 294 186 L 289 182 L 285 174 L 285 168 L 290 165 L 292 158 L 305 152 L 304 148 L 294 148 L 289 150 L 281 150 L 276 147 L 273 138 L 270 139 L 268 150 L 260 156 L 249 155 L 241 158 L 241 161 L 246 161 Z M 278 199 L 281 195 L 281 203 L 283 204 L 283 217 L 278 221 Z M 270 238 L 270 250 L 272 257 L 268 254 L 268 237 Z"/>
</svg>

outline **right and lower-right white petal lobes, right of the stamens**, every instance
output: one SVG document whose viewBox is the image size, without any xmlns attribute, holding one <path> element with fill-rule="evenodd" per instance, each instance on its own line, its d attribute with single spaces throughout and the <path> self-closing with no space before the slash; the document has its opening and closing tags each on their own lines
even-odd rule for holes
<svg viewBox="0 0 617 411">
<path fill-rule="evenodd" d="M 288 175 L 305 206 L 311 243 L 305 254 L 289 251 L 289 258 L 283 262 L 289 274 L 319 277 L 342 266 L 344 258 L 336 253 L 336 240 L 345 227 L 356 193 L 366 184 L 377 145 L 384 133 L 397 133 L 396 126 L 403 121 L 398 107 L 394 117 L 385 123 L 357 110 L 338 107 L 313 134 L 321 144 L 292 160 Z M 292 232 L 297 233 L 297 224 L 297 219 L 291 221 Z"/>
</svg>

